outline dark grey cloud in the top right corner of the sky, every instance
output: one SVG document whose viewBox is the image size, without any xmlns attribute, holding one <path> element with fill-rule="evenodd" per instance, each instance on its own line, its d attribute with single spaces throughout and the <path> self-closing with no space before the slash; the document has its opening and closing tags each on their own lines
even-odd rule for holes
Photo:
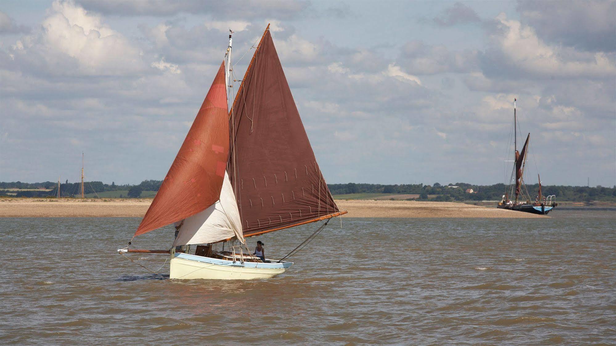
<svg viewBox="0 0 616 346">
<path fill-rule="evenodd" d="M 616 51 L 616 1 L 519 1 L 521 20 L 547 42 Z"/>
</svg>

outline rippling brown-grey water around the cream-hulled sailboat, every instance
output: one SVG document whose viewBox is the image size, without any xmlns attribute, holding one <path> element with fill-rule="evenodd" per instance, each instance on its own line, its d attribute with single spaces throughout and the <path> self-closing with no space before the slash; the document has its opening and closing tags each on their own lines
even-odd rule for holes
<svg viewBox="0 0 616 346">
<path fill-rule="evenodd" d="M 616 213 L 550 215 L 345 218 L 256 281 L 161 280 L 115 254 L 139 219 L 1 219 L 0 344 L 616 343 Z M 249 242 L 275 258 L 315 227 Z"/>
</svg>

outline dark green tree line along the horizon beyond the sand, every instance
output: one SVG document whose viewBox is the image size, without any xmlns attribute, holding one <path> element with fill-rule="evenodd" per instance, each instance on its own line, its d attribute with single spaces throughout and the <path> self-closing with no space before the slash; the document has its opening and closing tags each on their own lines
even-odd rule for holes
<svg viewBox="0 0 616 346">
<path fill-rule="evenodd" d="M 103 182 L 85 182 L 85 193 L 103 192 L 103 191 L 128 191 L 126 197 L 138 198 L 142 191 L 158 191 L 162 180 L 144 180 L 137 185 L 116 185 L 115 182 L 106 184 Z M 495 201 L 500 200 L 508 190 L 508 187 L 503 183 L 494 185 L 473 185 L 469 183 L 450 183 L 448 185 L 419 184 L 369 184 L 369 183 L 346 183 L 346 184 L 328 184 L 332 195 L 347 195 L 352 193 L 383 193 L 387 195 L 395 194 L 413 194 L 419 195 L 416 199 L 428 199 L 432 195 L 431 200 L 434 201 Z M 538 184 L 527 185 L 527 190 L 531 198 L 537 195 Z M 23 182 L 0 182 L 0 195 L 7 193 L 15 193 L 8 189 L 31 189 L 30 191 L 17 191 L 18 197 L 44 197 L 57 195 L 57 182 L 43 183 L 23 183 Z M 51 191 L 41 191 L 37 189 L 46 189 Z M 472 189 L 473 193 L 467 193 L 468 189 Z M 559 201 L 616 201 L 616 186 L 614 187 L 580 187 L 580 186 L 565 186 L 565 185 L 546 185 L 541 187 L 543 195 L 556 195 Z M 79 195 L 79 183 L 69 183 L 68 180 L 60 184 L 60 193 L 62 197 L 71 197 Z"/>
</svg>

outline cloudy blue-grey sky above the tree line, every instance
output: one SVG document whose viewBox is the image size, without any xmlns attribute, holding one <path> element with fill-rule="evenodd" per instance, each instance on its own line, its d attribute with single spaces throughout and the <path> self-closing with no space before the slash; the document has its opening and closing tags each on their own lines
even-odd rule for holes
<svg viewBox="0 0 616 346">
<path fill-rule="evenodd" d="M 328 183 L 507 182 L 516 98 L 527 183 L 616 185 L 616 1 L 2 1 L 0 181 L 163 179 L 267 23 Z"/>
</svg>

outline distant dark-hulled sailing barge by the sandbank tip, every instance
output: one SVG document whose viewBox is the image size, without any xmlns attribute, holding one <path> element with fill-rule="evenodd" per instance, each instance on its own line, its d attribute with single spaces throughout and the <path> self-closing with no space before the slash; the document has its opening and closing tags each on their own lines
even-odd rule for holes
<svg viewBox="0 0 616 346">
<path fill-rule="evenodd" d="M 534 202 L 530 201 L 530 195 L 526 185 L 524 184 L 524 168 L 526 167 L 526 161 L 529 153 L 529 141 L 530 133 L 527 135 L 524 145 L 521 151 L 517 151 L 517 111 L 516 101 L 513 100 L 513 132 L 514 132 L 514 160 L 513 160 L 513 172 L 511 172 L 511 180 L 515 176 L 515 184 L 509 184 L 506 187 L 505 195 L 503 199 L 498 203 L 499 208 L 509 209 L 513 211 L 531 212 L 533 214 L 546 215 L 558 204 L 556 203 L 556 195 L 543 196 L 541 193 L 541 177 L 537 174 L 539 179 L 539 191 Z M 515 195 L 511 200 L 509 196 Z"/>
</svg>

